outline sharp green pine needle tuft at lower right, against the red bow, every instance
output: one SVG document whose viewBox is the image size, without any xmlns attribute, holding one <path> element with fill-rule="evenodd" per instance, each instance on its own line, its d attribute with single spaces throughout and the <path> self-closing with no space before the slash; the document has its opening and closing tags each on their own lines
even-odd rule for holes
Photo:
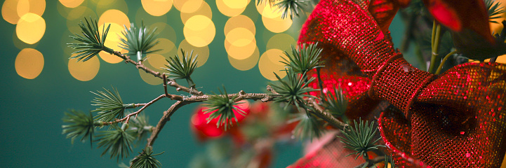
<svg viewBox="0 0 506 168">
<path fill-rule="evenodd" d="M 359 123 L 357 123 L 357 120 L 354 120 L 354 124 L 354 128 L 347 129 L 345 127 L 343 130 L 341 130 L 342 135 L 344 136 L 338 137 L 341 139 L 342 143 L 345 143 L 345 148 L 356 151 L 346 156 L 357 155 L 357 157 L 355 157 L 355 160 L 357 160 L 360 155 L 366 156 L 368 151 L 378 149 L 382 145 L 375 145 L 376 142 L 380 141 L 381 138 L 373 141 L 376 130 L 378 130 L 378 127 L 374 127 L 373 121 L 371 121 L 371 125 L 369 125 L 368 121 L 364 123 L 361 119 L 359 119 Z"/>
</svg>

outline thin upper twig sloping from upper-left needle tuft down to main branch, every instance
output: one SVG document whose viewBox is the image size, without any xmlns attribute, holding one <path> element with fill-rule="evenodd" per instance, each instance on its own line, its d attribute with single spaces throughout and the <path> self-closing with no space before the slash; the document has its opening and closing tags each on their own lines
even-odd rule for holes
<svg viewBox="0 0 506 168">
<path fill-rule="evenodd" d="M 123 55 L 119 51 L 114 51 L 113 55 L 116 55 L 118 57 L 121 57 L 122 59 L 125 59 L 125 63 L 127 63 L 127 64 L 128 63 L 134 64 L 137 69 L 142 69 L 146 73 L 152 74 L 155 77 L 162 78 L 162 79 L 164 78 L 163 75 L 162 75 L 162 73 L 160 73 L 158 71 L 153 71 L 152 69 L 149 69 L 148 67 L 144 66 L 144 64 L 142 64 L 142 62 L 135 62 L 134 60 L 130 59 L 130 56 L 128 56 L 128 55 Z M 182 85 L 179 85 L 173 79 L 166 79 L 166 81 L 168 81 L 168 85 L 170 85 L 172 87 L 175 87 L 175 90 L 177 90 L 177 91 L 182 90 L 184 92 L 188 92 L 190 94 L 194 94 L 194 95 L 197 95 L 197 96 L 204 95 L 204 93 L 200 92 L 199 90 L 190 89 L 188 87 L 184 87 Z"/>
</svg>

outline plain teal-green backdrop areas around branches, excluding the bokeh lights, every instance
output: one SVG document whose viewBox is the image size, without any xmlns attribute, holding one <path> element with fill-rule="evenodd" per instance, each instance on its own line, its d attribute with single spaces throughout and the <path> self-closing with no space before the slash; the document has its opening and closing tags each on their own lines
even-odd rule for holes
<svg viewBox="0 0 506 168">
<path fill-rule="evenodd" d="M 206 1 L 213 10 L 213 22 L 216 35 L 208 45 L 210 55 L 204 66 L 199 67 L 192 78 L 199 90 L 209 93 L 216 92 L 218 87 L 225 85 L 228 92 L 265 92 L 267 79 L 262 77 L 258 66 L 248 71 L 239 71 L 229 64 L 227 53 L 223 46 L 225 35 L 223 27 L 228 17 L 222 15 L 215 6 L 215 1 Z M 0 167 L 117 167 L 116 160 L 110 160 L 106 154 L 100 157 L 102 148 L 91 148 L 89 141 L 76 141 L 73 145 L 65 135 L 61 134 L 64 111 L 77 109 L 91 111 L 91 100 L 95 97 L 90 91 L 117 87 L 125 103 L 145 103 L 159 96 L 163 92 L 161 85 L 149 85 L 139 76 L 138 69 L 131 64 L 109 64 L 100 61 L 100 71 L 93 80 L 86 82 L 73 78 L 67 68 L 69 55 L 62 49 L 62 36 L 69 34 L 66 19 L 57 10 L 58 1 L 47 0 L 46 10 L 42 17 L 46 21 L 46 32 L 39 43 L 26 45 L 35 48 L 44 55 L 44 69 L 34 79 L 22 78 L 15 71 L 15 58 L 20 48 L 14 45 L 15 25 L 0 20 L 0 50 L 1 50 L 1 97 L 0 97 Z M 3 1 L 2 1 L 3 4 Z M 135 21 L 135 11 L 142 8 L 140 1 L 128 1 L 128 18 Z M 92 8 L 93 9 L 93 8 Z M 262 26 L 262 20 L 256 12 L 254 3 L 250 3 L 245 13 L 258 19 L 253 20 L 257 29 L 255 38 L 260 53 L 265 52 L 265 44 L 274 33 Z M 168 15 L 167 24 L 171 25 L 177 34 L 175 44 L 184 39 L 180 13 L 172 8 Z M 298 30 L 302 22 L 295 21 L 286 33 L 297 39 Z M 400 25 L 396 18 L 394 24 Z M 399 39 L 402 27 L 392 27 L 394 42 Z M 65 39 L 65 38 L 63 38 Z M 287 44 L 290 45 L 290 44 Z M 180 84 L 185 81 L 180 80 Z M 171 90 L 171 89 L 169 89 Z M 173 94 L 185 94 L 175 92 Z M 149 106 L 145 113 L 149 122 L 156 125 L 162 112 L 173 103 L 169 99 L 162 99 L 153 106 Z M 163 167 L 187 167 L 192 157 L 204 151 L 204 145 L 193 136 L 189 128 L 189 118 L 197 104 L 182 107 L 171 118 L 162 130 L 154 144 L 154 152 L 165 151 L 157 158 Z M 140 146 L 144 146 L 143 142 Z M 128 164 L 141 148 L 135 148 L 128 159 L 120 160 Z M 300 143 L 277 146 L 273 167 L 286 167 L 302 156 Z"/>
</svg>

